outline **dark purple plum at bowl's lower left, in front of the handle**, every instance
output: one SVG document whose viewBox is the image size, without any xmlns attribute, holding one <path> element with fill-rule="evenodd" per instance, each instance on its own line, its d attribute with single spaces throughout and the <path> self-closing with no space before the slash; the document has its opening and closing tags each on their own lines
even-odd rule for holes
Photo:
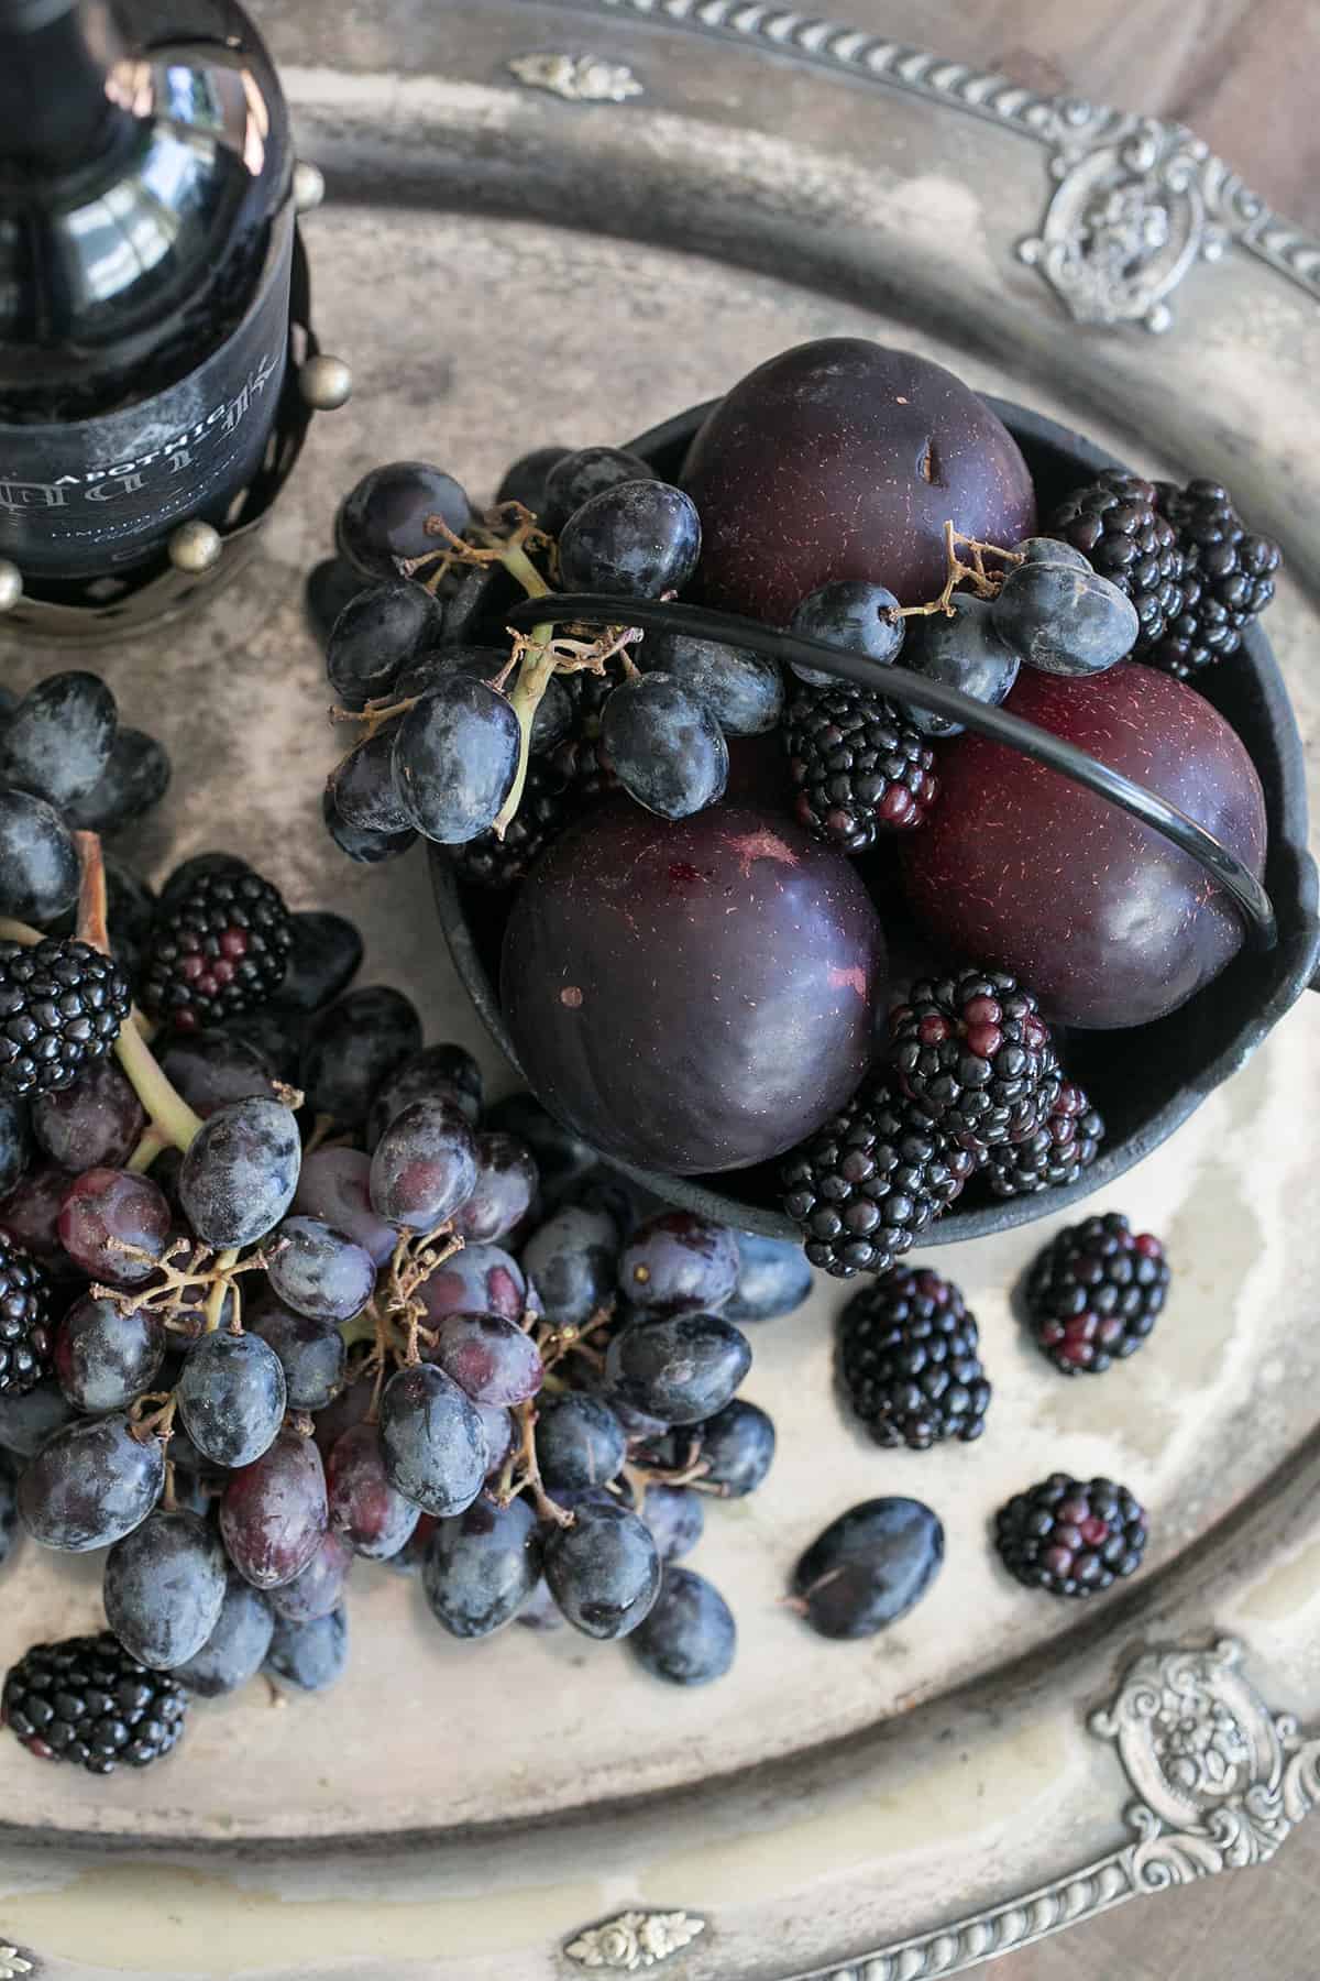
<svg viewBox="0 0 1320 1981">
<path fill-rule="evenodd" d="M 837 1113 L 883 989 L 881 923 L 841 854 L 746 806 L 669 824 L 627 800 L 542 858 L 501 973 L 546 1105 L 606 1153 L 679 1175 L 768 1161 Z"/>
</svg>

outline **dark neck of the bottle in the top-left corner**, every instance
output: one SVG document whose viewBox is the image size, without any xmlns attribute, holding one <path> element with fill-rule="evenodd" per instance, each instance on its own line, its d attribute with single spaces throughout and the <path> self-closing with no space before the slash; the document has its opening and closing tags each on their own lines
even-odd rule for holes
<svg viewBox="0 0 1320 1981">
<path fill-rule="evenodd" d="M 0 0 L 0 174 L 109 151 L 129 115 L 109 93 L 123 53 L 107 0 Z"/>
</svg>

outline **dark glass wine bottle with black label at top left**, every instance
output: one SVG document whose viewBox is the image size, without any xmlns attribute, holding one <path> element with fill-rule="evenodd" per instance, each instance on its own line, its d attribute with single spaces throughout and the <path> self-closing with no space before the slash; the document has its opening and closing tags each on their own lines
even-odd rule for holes
<svg viewBox="0 0 1320 1981">
<path fill-rule="evenodd" d="M 291 182 L 230 0 L 0 0 L 0 557 L 34 590 L 148 567 L 251 481 Z"/>
</svg>

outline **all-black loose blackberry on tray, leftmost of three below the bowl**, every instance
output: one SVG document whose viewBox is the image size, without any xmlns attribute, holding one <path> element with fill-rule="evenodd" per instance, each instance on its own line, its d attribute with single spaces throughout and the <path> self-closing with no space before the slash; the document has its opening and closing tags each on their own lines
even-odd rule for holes
<svg viewBox="0 0 1320 1981">
<path fill-rule="evenodd" d="M 926 1452 L 986 1428 L 990 1383 L 976 1315 L 952 1280 L 902 1266 L 855 1294 L 839 1321 L 839 1369 L 877 1444 Z"/>
</svg>

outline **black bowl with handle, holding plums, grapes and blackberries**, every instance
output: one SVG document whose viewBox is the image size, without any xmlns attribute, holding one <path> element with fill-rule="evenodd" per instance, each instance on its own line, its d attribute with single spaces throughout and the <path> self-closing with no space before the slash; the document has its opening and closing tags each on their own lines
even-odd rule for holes
<svg viewBox="0 0 1320 1981">
<path fill-rule="evenodd" d="M 1102 468 L 1122 466 L 1055 420 L 1007 400 L 986 402 L 1023 450 L 1041 497 L 1041 513 L 1049 513 L 1069 489 Z M 629 442 L 629 448 L 653 462 L 659 473 L 677 477 L 687 448 L 708 412 L 710 406 L 683 412 Z M 1247 745 L 1265 788 L 1269 816 L 1265 886 L 1278 919 L 1276 945 L 1269 951 L 1243 947 L 1213 985 L 1156 1024 L 1124 1032 L 1071 1034 L 1069 1072 L 1086 1086 L 1108 1123 L 1108 1139 L 1098 1161 L 1071 1189 L 1041 1191 L 1035 1197 L 982 1197 L 982 1185 L 972 1183 L 966 1197 L 922 1236 L 922 1246 L 952 1244 L 1029 1224 L 1094 1191 L 1108 1189 L 1247 1062 L 1316 977 L 1320 919 L 1316 864 L 1306 848 L 1306 769 L 1292 705 L 1269 640 L 1259 630 L 1247 634 L 1243 652 L 1209 676 L 1205 693 Z M 517 1068 L 519 1060 L 497 994 L 507 905 L 477 889 L 459 887 L 449 860 L 437 846 L 431 848 L 431 880 L 455 969 L 491 1038 Z M 889 919 L 887 913 L 887 927 Z M 778 1208 L 774 1163 L 703 1179 L 667 1177 L 635 1169 L 615 1157 L 602 1159 L 671 1204 L 772 1238 L 800 1236 L 798 1226 Z"/>
</svg>

